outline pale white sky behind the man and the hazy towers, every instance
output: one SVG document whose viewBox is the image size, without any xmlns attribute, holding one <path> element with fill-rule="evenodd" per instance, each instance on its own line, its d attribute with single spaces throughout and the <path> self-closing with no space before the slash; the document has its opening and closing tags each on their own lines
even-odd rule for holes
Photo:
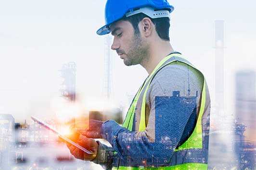
<svg viewBox="0 0 256 170">
<path fill-rule="evenodd" d="M 0 113 L 17 121 L 51 114 L 59 95 L 62 65 L 77 63 L 77 92 L 87 102 L 103 89 L 105 0 L 0 0 Z M 256 69 L 254 0 L 169 0 L 170 38 L 214 85 L 214 21 L 225 21 L 225 100 L 234 111 L 234 74 Z M 113 53 L 114 98 L 126 102 L 147 76 L 141 66 L 127 67 Z"/>
</svg>

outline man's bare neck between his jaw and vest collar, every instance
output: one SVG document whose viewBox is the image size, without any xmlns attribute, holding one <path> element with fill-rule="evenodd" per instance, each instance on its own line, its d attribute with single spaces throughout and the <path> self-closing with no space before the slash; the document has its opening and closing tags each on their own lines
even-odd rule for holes
<svg viewBox="0 0 256 170">
<path fill-rule="evenodd" d="M 141 66 L 147 70 L 148 74 L 151 74 L 158 63 L 171 52 L 173 52 L 173 48 L 170 42 L 161 41 L 154 43 L 150 46 L 147 60 L 144 60 Z"/>
</svg>

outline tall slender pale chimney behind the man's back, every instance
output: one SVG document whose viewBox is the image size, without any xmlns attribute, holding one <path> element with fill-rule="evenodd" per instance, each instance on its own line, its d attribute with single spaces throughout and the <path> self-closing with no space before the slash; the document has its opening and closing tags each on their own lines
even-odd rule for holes
<svg viewBox="0 0 256 170">
<path fill-rule="evenodd" d="M 215 21 L 215 101 L 224 110 L 224 21 Z"/>
</svg>

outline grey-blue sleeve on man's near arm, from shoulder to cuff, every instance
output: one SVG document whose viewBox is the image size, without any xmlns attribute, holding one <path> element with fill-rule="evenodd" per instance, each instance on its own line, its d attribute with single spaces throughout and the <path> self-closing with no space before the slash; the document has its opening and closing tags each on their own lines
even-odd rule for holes
<svg viewBox="0 0 256 170">
<path fill-rule="evenodd" d="M 114 120 L 102 124 L 103 138 L 113 146 L 122 159 L 129 157 L 132 161 L 137 161 L 143 158 L 147 162 L 153 162 L 154 158 L 158 163 L 164 164 L 166 159 L 173 155 L 191 116 L 196 116 L 199 100 L 191 102 L 187 94 L 183 96 L 177 92 L 183 89 L 184 81 L 188 80 L 188 77 L 184 76 L 188 75 L 187 67 L 168 67 L 161 72 L 152 81 L 148 91 L 149 97 L 146 102 L 150 114 L 144 131 L 129 131 Z M 190 74 L 193 75 L 194 72 Z M 197 77 L 191 75 L 190 78 Z M 202 91 L 199 79 L 190 81 Z M 193 127 L 194 121 L 190 123 Z"/>
</svg>

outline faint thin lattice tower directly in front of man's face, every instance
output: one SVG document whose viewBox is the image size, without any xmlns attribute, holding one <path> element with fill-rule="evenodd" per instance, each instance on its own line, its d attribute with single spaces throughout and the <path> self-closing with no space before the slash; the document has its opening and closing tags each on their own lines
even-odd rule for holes
<svg viewBox="0 0 256 170">
<path fill-rule="evenodd" d="M 106 99 L 112 96 L 112 55 L 111 55 L 111 35 L 107 35 L 105 39 L 105 61 L 104 61 L 104 90 L 103 94 Z"/>
</svg>

